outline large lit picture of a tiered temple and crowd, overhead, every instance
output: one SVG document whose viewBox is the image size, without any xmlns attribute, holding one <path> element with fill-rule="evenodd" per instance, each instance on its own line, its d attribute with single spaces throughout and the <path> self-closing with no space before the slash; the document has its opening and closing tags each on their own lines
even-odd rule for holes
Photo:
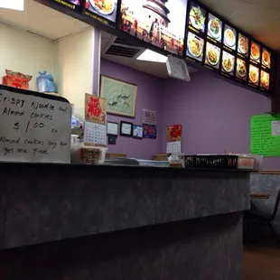
<svg viewBox="0 0 280 280">
<path fill-rule="evenodd" d="M 120 28 L 142 41 L 182 56 L 187 0 L 122 0 Z"/>
</svg>

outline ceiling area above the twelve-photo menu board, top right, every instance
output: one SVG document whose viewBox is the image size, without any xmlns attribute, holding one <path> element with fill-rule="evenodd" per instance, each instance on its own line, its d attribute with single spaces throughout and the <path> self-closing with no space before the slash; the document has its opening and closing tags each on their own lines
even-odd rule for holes
<svg viewBox="0 0 280 280">
<path fill-rule="evenodd" d="M 201 0 L 230 23 L 280 50 L 280 0 Z"/>
</svg>

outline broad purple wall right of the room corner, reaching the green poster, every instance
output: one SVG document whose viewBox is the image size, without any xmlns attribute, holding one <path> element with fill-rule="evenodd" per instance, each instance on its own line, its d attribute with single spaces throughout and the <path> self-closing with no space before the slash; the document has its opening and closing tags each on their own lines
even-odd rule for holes
<svg viewBox="0 0 280 280">
<path fill-rule="evenodd" d="M 185 154 L 249 153 L 250 116 L 270 110 L 268 98 L 207 73 L 193 74 L 189 83 L 168 79 L 164 89 L 162 131 L 182 124 Z M 265 169 L 280 169 L 280 159 L 266 158 Z"/>
</svg>

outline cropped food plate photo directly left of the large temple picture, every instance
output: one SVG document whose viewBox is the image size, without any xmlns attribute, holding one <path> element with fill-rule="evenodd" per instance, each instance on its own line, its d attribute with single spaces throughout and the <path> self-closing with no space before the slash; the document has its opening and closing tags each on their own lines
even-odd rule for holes
<svg viewBox="0 0 280 280">
<path fill-rule="evenodd" d="M 117 0 L 86 0 L 85 10 L 85 14 L 89 12 L 92 15 L 106 19 L 110 23 L 116 23 Z"/>
</svg>

